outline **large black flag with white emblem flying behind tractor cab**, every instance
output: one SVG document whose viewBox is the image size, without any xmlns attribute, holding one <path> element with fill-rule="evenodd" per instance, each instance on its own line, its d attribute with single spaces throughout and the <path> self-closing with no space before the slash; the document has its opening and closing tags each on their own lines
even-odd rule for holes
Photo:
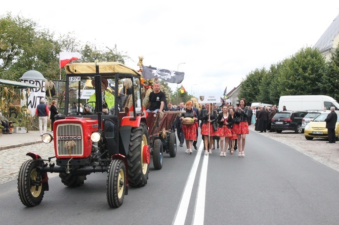
<svg viewBox="0 0 339 225">
<path fill-rule="evenodd" d="M 159 78 L 161 80 L 167 81 L 168 83 L 180 84 L 184 80 L 185 73 L 156 67 L 143 66 L 142 75 L 146 80 Z"/>
</svg>

